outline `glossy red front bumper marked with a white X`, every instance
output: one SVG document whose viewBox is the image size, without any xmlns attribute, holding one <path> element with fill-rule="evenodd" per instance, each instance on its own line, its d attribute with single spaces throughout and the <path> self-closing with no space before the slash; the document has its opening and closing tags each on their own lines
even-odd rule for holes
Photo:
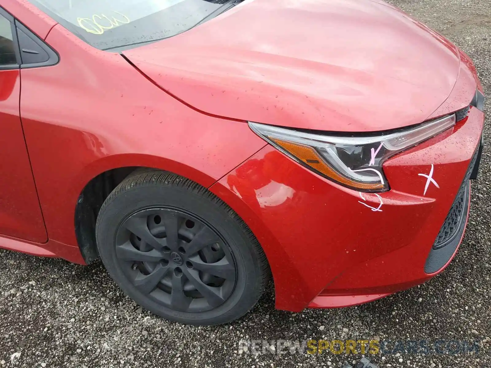
<svg viewBox="0 0 491 368">
<path fill-rule="evenodd" d="M 425 264 L 456 198 L 483 130 L 467 118 L 390 158 L 391 190 L 360 193 L 321 178 L 266 146 L 211 187 L 246 221 L 268 257 L 276 307 L 300 311 L 363 303 L 440 272 Z M 430 183 L 423 194 L 428 175 Z M 375 211 L 364 206 L 368 204 Z M 458 239 L 461 241 L 462 236 Z M 457 247 L 456 247 L 457 248 Z"/>
</svg>

